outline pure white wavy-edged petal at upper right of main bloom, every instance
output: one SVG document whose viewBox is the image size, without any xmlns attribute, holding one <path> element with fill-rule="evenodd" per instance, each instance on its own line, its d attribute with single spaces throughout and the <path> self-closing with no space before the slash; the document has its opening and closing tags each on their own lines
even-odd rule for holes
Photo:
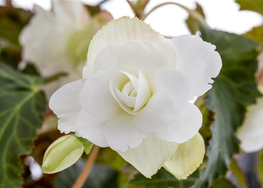
<svg viewBox="0 0 263 188">
<path fill-rule="evenodd" d="M 176 70 L 186 75 L 191 85 L 189 100 L 201 96 L 212 88 L 222 67 L 222 60 L 216 46 L 204 42 L 196 35 L 181 35 L 169 40 L 176 52 Z"/>
</svg>

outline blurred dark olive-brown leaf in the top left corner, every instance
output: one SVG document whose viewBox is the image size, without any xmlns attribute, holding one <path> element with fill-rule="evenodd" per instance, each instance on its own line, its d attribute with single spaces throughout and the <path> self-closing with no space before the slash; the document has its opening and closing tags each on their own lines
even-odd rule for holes
<svg viewBox="0 0 263 188">
<path fill-rule="evenodd" d="M 0 37 L 18 44 L 19 33 L 32 15 L 31 11 L 14 8 L 11 4 L 0 6 Z"/>
</svg>

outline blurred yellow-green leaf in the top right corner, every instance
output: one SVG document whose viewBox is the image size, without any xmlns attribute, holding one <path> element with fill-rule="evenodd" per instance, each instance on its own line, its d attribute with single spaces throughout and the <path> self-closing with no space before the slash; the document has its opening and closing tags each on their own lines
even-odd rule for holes
<svg viewBox="0 0 263 188">
<path fill-rule="evenodd" d="M 240 10 L 255 11 L 263 15 L 263 1 L 259 0 L 236 0 Z"/>
</svg>

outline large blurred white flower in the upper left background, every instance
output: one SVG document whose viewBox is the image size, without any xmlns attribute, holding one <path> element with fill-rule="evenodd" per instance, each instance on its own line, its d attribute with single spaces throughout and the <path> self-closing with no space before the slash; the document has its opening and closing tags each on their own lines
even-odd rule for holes
<svg viewBox="0 0 263 188">
<path fill-rule="evenodd" d="M 52 4 L 52 12 L 35 5 L 34 16 L 19 36 L 24 63 L 34 63 L 43 76 L 61 72 L 68 74 L 49 86 L 49 94 L 66 83 L 82 78 L 85 59 L 77 57 L 82 55 L 78 51 L 84 51 L 85 57 L 92 36 L 112 19 L 104 11 L 92 18 L 81 1 L 52 1 Z M 81 49 L 75 49 L 72 40 L 76 40 L 80 31 L 86 32 L 88 38 L 82 46 L 79 45 Z"/>
</svg>

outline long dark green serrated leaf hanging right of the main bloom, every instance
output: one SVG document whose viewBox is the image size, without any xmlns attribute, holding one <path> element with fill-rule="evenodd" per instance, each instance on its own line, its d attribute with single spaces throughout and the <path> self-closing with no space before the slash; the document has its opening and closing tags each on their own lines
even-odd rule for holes
<svg viewBox="0 0 263 188">
<path fill-rule="evenodd" d="M 205 98 L 206 107 L 215 115 L 206 152 L 209 160 L 196 188 L 211 185 L 216 177 L 225 175 L 232 155 L 239 151 L 236 128 L 242 124 L 246 106 L 255 103 L 255 98 L 260 96 L 254 77 L 258 44 L 244 36 L 203 27 L 201 33 L 204 41 L 216 46 L 223 66 Z"/>
</svg>

